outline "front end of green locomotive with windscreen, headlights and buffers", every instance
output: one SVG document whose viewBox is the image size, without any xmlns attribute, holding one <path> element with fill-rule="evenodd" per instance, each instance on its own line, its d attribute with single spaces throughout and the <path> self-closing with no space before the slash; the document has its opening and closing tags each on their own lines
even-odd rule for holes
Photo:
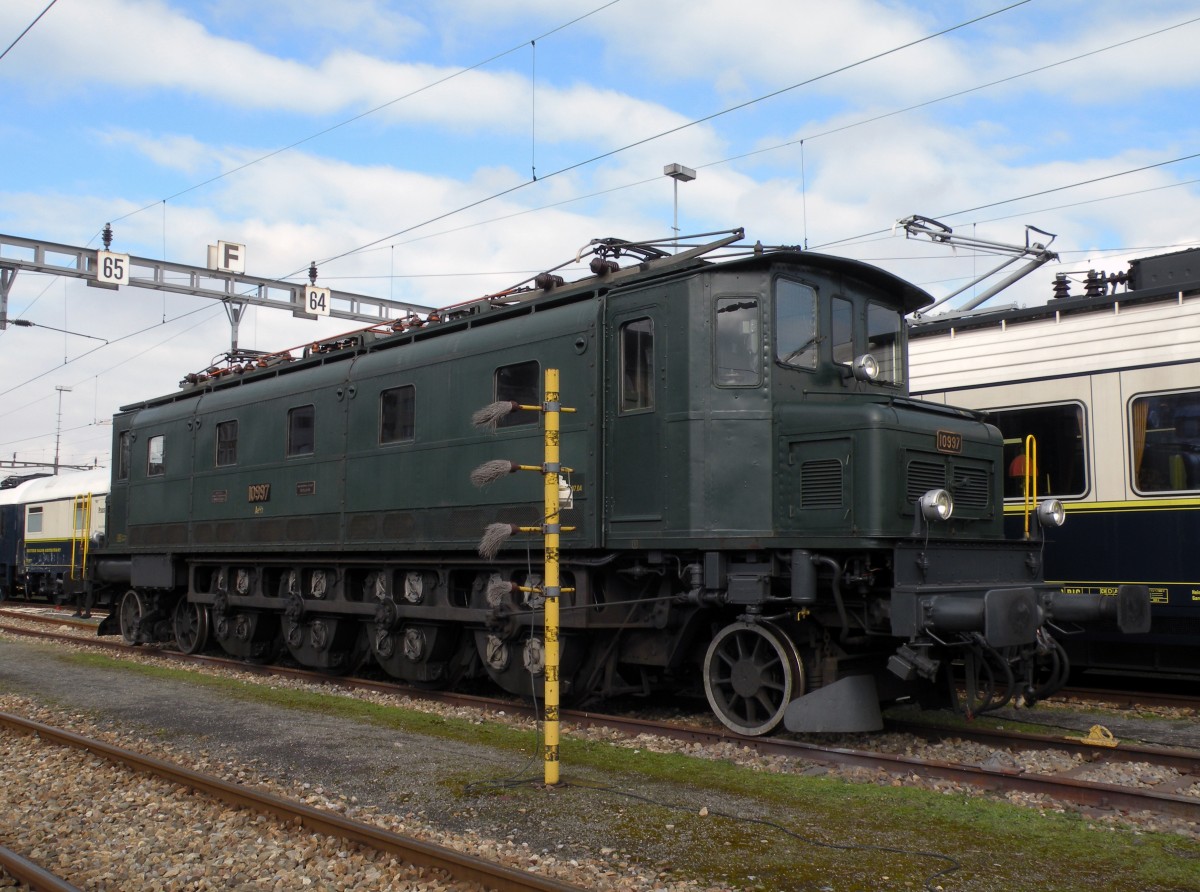
<svg viewBox="0 0 1200 892">
<path fill-rule="evenodd" d="M 775 622 L 808 669 L 785 726 L 874 730 L 877 704 L 944 700 L 948 681 L 964 683 L 967 712 L 1033 702 L 1066 682 L 1056 635 L 1144 628 L 1145 587 L 1079 598 L 1045 585 L 1063 520 L 1052 501 L 1031 497 L 1028 532 L 1006 539 L 995 427 L 907 396 L 911 286 L 821 273 L 780 276 L 773 295 L 775 527 L 799 543 L 794 613 Z"/>
</svg>

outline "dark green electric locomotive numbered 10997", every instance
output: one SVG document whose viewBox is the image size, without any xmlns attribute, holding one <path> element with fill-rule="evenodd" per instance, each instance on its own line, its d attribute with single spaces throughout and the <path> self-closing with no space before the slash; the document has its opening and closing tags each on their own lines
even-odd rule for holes
<svg viewBox="0 0 1200 892">
<path fill-rule="evenodd" d="M 881 726 L 1064 677 L 1051 631 L 1144 628 L 1148 595 L 1042 580 L 1054 504 L 1003 534 L 1002 441 L 908 397 L 922 289 L 740 232 L 668 253 L 594 241 L 593 275 L 190 376 L 114 418 L 107 631 L 420 686 L 540 693 L 536 411 L 560 372 L 564 694 L 703 692 L 734 731 Z M 708 252 L 708 256 L 706 256 Z M 624 264 L 624 265 L 622 265 Z M 107 580 L 107 582 L 101 582 Z M 1051 666 L 1046 670 L 1046 666 Z"/>
</svg>

